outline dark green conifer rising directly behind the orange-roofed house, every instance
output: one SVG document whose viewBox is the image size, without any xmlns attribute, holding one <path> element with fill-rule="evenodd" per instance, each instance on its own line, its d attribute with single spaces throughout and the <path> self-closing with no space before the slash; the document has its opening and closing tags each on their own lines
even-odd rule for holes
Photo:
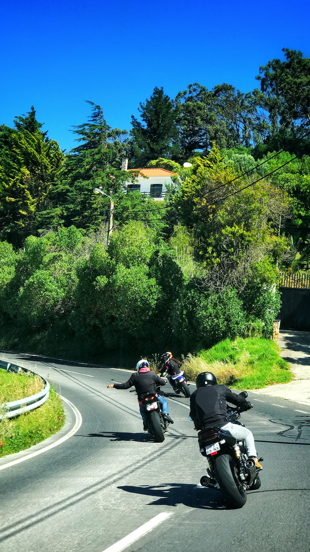
<svg viewBox="0 0 310 552">
<path fill-rule="evenodd" d="M 138 112 L 142 122 L 131 115 L 135 168 L 145 167 L 148 161 L 158 157 L 170 157 L 173 141 L 177 139 L 174 101 L 164 93 L 163 87 L 155 87 L 151 98 L 144 104 L 140 102 Z"/>
</svg>

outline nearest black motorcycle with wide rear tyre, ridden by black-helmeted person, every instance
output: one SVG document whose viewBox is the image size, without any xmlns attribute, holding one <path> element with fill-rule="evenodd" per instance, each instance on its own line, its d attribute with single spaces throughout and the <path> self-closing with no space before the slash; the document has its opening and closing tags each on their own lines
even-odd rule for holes
<svg viewBox="0 0 310 552">
<path fill-rule="evenodd" d="M 247 391 L 240 395 L 246 399 Z M 238 422 L 240 408 L 227 406 L 229 422 Z M 248 458 L 243 441 L 237 441 L 229 432 L 218 427 L 202 430 L 198 433 L 200 452 L 207 458 L 209 468 L 207 476 L 202 476 L 200 484 L 204 487 L 221 490 L 227 501 L 235 508 L 242 508 L 247 501 L 247 491 L 259 489 L 261 485 L 255 460 Z M 263 458 L 259 458 L 263 461 Z"/>
</svg>

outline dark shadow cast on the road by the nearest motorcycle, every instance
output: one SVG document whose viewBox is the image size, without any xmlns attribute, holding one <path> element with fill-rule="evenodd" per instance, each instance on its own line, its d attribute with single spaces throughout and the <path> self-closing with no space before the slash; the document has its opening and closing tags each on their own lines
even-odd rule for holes
<svg viewBox="0 0 310 552">
<path fill-rule="evenodd" d="M 164 485 L 122 485 L 117 487 L 126 492 L 145 495 L 154 498 L 147 506 L 178 506 L 184 504 L 189 508 L 227 509 L 225 499 L 219 491 L 196 488 L 196 485 L 186 483 L 167 483 Z M 158 498 L 156 498 L 158 497 Z"/>
</svg>

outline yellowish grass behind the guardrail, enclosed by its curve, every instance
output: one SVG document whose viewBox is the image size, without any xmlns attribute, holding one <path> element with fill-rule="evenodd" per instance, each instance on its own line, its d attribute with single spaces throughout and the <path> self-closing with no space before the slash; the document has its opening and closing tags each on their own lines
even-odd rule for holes
<svg viewBox="0 0 310 552">
<path fill-rule="evenodd" d="M 44 381 L 39 375 L 23 370 L 19 374 L 0 370 L 0 405 L 35 395 L 43 387 Z"/>
</svg>

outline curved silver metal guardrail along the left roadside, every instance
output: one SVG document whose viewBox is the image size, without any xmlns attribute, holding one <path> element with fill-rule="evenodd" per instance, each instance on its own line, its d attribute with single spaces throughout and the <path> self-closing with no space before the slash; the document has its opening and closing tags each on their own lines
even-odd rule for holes
<svg viewBox="0 0 310 552">
<path fill-rule="evenodd" d="M 0 368 L 8 372 L 13 371 L 15 373 L 19 373 L 20 370 L 24 370 L 26 372 L 30 372 L 31 374 L 35 374 L 35 372 L 28 370 L 27 368 L 22 368 L 17 364 L 4 362 L 3 360 L 0 360 Z M 5 402 L 4 405 L 0 405 L 0 412 L 2 412 L 0 413 L 0 420 L 3 420 L 3 418 L 13 418 L 14 416 L 19 416 L 19 414 L 22 414 L 23 412 L 35 410 L 35 408 L 38 408 L 43 405 L 45 401 L 47 401 L 50 396 L 50 384 L 45 378 L 42 378 L 42 376 L 40 376 L 40 378 L 44 381 L 45 388 L 30 397 L 25 397 L 24 399 L 19 399 L 18 401 Z"/>
</svg>

